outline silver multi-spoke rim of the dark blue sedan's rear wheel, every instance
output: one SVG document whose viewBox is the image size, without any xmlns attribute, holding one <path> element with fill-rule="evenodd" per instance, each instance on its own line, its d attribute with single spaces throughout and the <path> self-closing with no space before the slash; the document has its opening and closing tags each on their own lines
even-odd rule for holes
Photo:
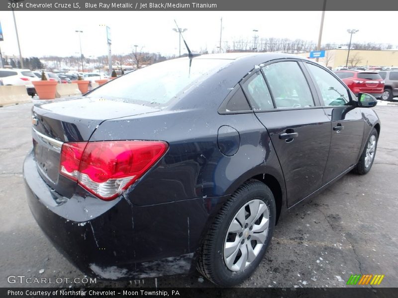
<svg viewBox="0 0 398 298">
<path fill-rule="evenodd" d="M 247 268 L 259 255 L 268 235 L 270 212 L 262 200 L 247 202 L 234 215 L 223 248 L 225 265 L 238 272 Z"/>
</svg>

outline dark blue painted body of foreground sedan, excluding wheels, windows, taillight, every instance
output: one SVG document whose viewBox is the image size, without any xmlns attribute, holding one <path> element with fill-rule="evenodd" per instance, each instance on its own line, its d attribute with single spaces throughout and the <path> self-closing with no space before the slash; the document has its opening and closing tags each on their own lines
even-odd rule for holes
<svg viewBox="0 0 398 298">
<path fill-rule="evenodd" d="M 206 56 L 182 61 L 188 71 L 190 62 L 195 67 L 202 59 Z M 256 112 L 243 102 L 242 110 L 231 111 L 228 103 L 240 92 L 238 82 L 259 65 L 304 60 L 285 54 L 207 59 L 229 61 L 167 107 L 90 93 L 33 107 L 38 149 L 23 165 L 29 206 L 57 249 L 84 273 L 105 280 L 188 273 L 214 217 L 242 183 L 266 182 L 279 218 L 353 169 L 372 129 L 380 132 L 373 110 L 322 107 L 311 81 L 312 108 Z M 310 79 L 305 67 L 303 72 Z M 334 134 L 339 123 L 345 129 Z M 289 129 L 300 136 L 295 147 L 279 139 Z M 116 199 L 100 200 L 57 174 L 63 143 L 119 140 L 165 141 L 168 150 Z"/>
</svg>

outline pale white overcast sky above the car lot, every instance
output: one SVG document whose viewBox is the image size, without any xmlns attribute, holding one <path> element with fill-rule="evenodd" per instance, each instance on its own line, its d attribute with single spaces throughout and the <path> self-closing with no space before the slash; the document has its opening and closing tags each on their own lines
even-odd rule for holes
<svg viewBox="0 0 398 298">
<path fill-rule="evenodd" d="M 377 13 L 377 16 L 375 15 Z M 322 43 L 347 44 L 347 29 L 359 29 L 353 42 L 372 42 L 398 45 L 395 11 L 326 11 Z M 383 26 L 380 22 L 383 16 Z M 82 48 L 86 57 L 107 55 L 106 33 L 100 24 L 111 28 L 112 54 L 127 54 L 138 45 L 138 51 L 178 55 L 178 34 L 174 19 L 188 28 L 184 37 L 192 51 L 210 52 L 220 38 L 222 41 L 269 38 L 303 39 L 317 42 L 321 11 L 16 11 L 21 52 L 23 57 L 46 55 L 77 56 L 79 37 L 75 30 L 83 30 Z M 3 55 L 18 55 L 11 11 L 0 11 L 4 41 L 0 41 Z M 185 48 L 182 44 L 182 53 Z M 79 53 L 79 54 L 77 54 Z"/>
</svg>

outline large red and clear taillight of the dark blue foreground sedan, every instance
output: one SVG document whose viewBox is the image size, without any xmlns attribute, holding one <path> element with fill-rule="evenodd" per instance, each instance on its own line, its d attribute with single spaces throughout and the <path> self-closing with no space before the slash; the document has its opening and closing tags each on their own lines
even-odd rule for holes
<svg viewBox="0 0 398 298">
<path fill-rule="evenodd" d="M 109 201 L 142 177 L 167 149 L 160 141 L 64 143 L 60 173 Z"/>
</svg>

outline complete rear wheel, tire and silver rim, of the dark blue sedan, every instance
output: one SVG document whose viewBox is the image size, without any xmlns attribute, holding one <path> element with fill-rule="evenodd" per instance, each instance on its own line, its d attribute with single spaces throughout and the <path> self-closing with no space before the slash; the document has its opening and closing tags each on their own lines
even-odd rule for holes
<svg viewBox="0 0 398 298">
<path fill-rule="evenodd" d="M 271 190 L 258 180 L 244 183 L 224 204 L 211 225 L 198 270 L 218 286 L 243 282 L 260 264 L 275 227 Z"/>
</svg>

